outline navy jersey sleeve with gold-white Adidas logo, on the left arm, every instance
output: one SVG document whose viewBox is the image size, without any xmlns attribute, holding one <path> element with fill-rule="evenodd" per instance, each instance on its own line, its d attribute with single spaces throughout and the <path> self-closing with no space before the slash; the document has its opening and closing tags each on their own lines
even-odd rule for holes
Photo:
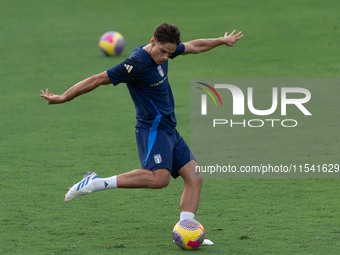
<svg viewBox="0 0 340 255">
<path fill-rule="evenodd" d="M 140 79 L 143 75 L 143 67 L 136 60 L 126 59 L 106 72 L 112 84 L 116 86 L 119 83 L 130 83 Z"/>
</svg>

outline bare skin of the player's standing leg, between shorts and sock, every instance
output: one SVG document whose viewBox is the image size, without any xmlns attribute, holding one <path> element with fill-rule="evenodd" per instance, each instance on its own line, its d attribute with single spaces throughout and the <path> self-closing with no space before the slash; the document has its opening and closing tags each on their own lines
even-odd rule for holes
<svg viewBox="0 0 340 255">
<path fill-rule="evenodd" d="M 203 183 L 201 173 L 195 172 L 196 165 L 196 161 L 191 160 L 178 171 L 184 180 L 184 188 L 179 207 L 181 213 L 190 212 L 193 214 L 192 216 L 194 216 L 197 211 Z"/>
</svg>

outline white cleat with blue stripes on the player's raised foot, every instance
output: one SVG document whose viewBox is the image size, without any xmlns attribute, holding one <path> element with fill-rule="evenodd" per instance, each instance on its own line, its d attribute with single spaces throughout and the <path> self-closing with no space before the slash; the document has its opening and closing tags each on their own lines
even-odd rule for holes
<svg viewBox="0 0 340 255">
<path fill-rule="evenodd" d="M 93 179 L 100 178 L 94 172 L 88 172 L 80 182 L 73 185 L 65 194 L 65 202 L 70 202 L 82 195 L 90 194 L 93 191 Z"/>
</svg>

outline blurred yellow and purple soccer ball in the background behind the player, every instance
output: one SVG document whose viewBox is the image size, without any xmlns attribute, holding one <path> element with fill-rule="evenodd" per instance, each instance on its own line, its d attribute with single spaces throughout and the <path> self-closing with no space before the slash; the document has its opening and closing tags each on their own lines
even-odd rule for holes
<svg viewBox="0 0 340 255">
<path fill-rule="evenodd" d="M 99 48 L 105 56 L 118 56 L 124 50 L 124 45 L 124 37 L 115 31 L 106 32 L 99 40 Z"/>
</svg>

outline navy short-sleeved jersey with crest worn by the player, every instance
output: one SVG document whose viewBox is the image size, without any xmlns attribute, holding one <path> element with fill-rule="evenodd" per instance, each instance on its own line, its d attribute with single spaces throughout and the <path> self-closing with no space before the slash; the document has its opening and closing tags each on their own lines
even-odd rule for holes
<svg viewBox="0 0 340 255">
<path fill-rule="evenodd" d="M 170 56 L 184 52 L 177 46 Z M 130 58 L 107 70 L 113 83 L 126 83 L 136 108 L 137 128 L 173 130 L 176 127 L 175 102 L 168 80 L 168 61 L 157 65 L 143 46 L 135 48 Z"/>
</svg>

